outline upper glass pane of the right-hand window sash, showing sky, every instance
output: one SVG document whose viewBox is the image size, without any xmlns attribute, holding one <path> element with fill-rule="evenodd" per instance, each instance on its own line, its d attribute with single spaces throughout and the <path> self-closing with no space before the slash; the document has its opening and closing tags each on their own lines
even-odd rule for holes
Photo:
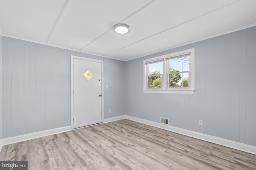
<svg viewBox="0 0 256 170">
<path fill-rule="evenodd" d="M 189 71 L 189 57 L 170 59 L 170 72 Z"/>
</svg>

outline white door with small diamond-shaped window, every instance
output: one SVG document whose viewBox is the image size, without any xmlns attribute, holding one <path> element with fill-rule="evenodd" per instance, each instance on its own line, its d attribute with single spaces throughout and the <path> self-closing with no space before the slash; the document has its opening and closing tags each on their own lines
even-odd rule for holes
<svg viewBox="0 0 256 170">
<path fill-rule="evenodd" d="M 101 64 L 73 59 L 74 128 L 102 123 Z"/>
</svg>

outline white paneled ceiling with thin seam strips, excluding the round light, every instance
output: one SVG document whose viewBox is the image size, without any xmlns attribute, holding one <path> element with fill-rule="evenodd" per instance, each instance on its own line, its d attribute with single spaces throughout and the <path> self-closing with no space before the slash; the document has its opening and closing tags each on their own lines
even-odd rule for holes
<svg viewBox="0 0 256 170">
<path fill-rule="evenodd" d="M 0 34 L 127 61 L 256 25 L 256 0 L 0 0 Z M 128 34 L 112 27 L 126 23 Z"/>
</svg>

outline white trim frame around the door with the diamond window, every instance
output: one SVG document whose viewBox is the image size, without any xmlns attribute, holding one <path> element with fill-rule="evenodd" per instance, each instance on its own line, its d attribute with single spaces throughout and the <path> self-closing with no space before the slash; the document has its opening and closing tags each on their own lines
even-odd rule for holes
<svg viewBox="0 0 256 170">
<path fill-rule="evenodd" d="M 103 61 L 102 60 L 96 60 L 96 59 L 89 59 L 89 58 L 85 58 L 85 57 L 78 57 L 75 55 L 71 55 L 70 56 L 70 76 L 71 76 L 71 81 L 70 81 L 70 94 L 71 94 L 71 129 L 74 130 L 74 94 L 73 94 L 73 90 L 74 90 L 74 69 L 73 69 L 73 61 L 74 59 L 78 59 L 78 60 L 85 60 L 85 61 L 93 61 L 96 63 L 101 63 L 101 120 L 103 122 L 104 120 L 104 74 L 103 74 Z M 82 128 L 82 127 L 80 127 Z M 76 128 L 79 129 L 79 128 Z"/>
</svg>

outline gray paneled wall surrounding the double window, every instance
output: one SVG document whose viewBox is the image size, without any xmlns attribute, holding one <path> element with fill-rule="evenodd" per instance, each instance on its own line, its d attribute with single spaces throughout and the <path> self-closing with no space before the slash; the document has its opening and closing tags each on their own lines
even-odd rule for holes
<svg viewBox="0 0 256 170">
<path fill-rule="evenodd" d="M 170 40 L 171 41 L 171 40 Z M 195 48 L 195 94 L 143 93 L 143 60 Z M 126 115 L 256 146 L 256 27 L 127 61 Z M 198 125 L 203 120 L 203 126 Z"/>
</svg>

